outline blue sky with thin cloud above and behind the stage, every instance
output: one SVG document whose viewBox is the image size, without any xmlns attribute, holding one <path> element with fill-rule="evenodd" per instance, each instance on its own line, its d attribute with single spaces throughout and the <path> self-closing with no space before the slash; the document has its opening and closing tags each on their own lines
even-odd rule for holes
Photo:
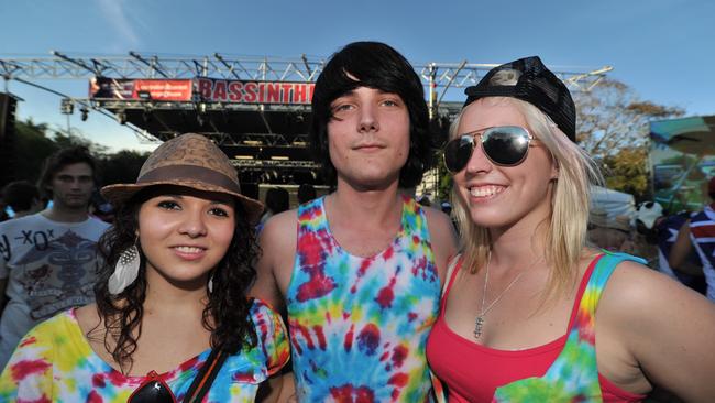
<svg viewBox="0 0 715 403">
<path fill-rule="evenodd" d="M 715 115 L 715 2 L 600 1 L 0 1 L 0 58 L 50 55 L 329 56 L 358 40 L 386 42 L 415 63 L 504 63 L 539 55 L 554 68 L 612 65 L 644 100 Z M 85 80 L 40 81 L 86 97 Z M 2 88 L 0 88 L 2 89 Z M 19 118 L 67 126 L 59 97 L 10 81 Z M 147 149 L 91 113 L 70 124 L 90 140 Z M 148 146 L 151 149 L 152 146 Z"/>
</svg>

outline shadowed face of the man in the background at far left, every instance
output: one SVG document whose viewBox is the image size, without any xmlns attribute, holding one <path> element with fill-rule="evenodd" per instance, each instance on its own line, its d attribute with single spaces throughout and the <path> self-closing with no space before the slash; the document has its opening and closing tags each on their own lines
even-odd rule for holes
<svg viewBox="0 0 715 403">
<path fill-rule="evenodd" d="M 92 168 L 84 162 L 65 165 L 54 174 L 50 185 L 53 203 L 67 209 L 87 208 L 94 187 Z"/>
</svg>

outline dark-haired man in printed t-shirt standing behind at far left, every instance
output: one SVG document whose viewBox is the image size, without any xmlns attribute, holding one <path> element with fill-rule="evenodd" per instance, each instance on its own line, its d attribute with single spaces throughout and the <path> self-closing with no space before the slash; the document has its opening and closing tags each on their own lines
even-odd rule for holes
<svg viewBox="0 0 715 403">
<path fill-rule="evenodd" d="M 38 183 L 52 207 L 0 224 L 0 368 L 34 325 L 94 299 L 97 240 L 109 227 L 88 214 L 96 182 L 87 148 L 59 150 Z"/>
</svg>

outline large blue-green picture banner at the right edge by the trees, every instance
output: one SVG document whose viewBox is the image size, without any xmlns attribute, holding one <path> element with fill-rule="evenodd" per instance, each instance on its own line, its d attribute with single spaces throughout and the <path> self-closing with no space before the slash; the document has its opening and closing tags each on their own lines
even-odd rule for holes
<svg viewBox="0 0 715 403">
<path fill-rule="evenodd" d="M 715 176 L 715 116 L 650 122 L 650 140 L 656 202 L 671 213 L 702 209 Z"/>
</svg>

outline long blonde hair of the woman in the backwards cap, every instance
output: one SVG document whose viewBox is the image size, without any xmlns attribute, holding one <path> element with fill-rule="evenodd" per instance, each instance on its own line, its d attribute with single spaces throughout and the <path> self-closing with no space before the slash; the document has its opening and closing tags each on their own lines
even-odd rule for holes
<svg viewBox="0 0 715 403">
<path fill-rule="evenodd" d="M 593 160 L 573 143 L 557 124 L 536 106 L 510 97 L 487 97 L 475 102 L 509 104 L 524 116 L 529 131 L 543 143 L 558 166 L 558 177 L 551 192 L 551 215 L 544 222 L 544 259 L 553 270 L 549 274 L 547 295 L 565 292 L 576 279 L 579 261 L 586 241 L 586 225 L 591 203 L 591 185 L 603 182 Z M 455 138 L 464 110 L 450 128 L 450 139 Z M 461 231 L 461 251 L 464 265 L 472 273 L 486 264 L 492 239 L 486 227 L 474 224 L 464 200 L 452 188 L 453 215 Z M 553 293 L 553 294 L 552 294 Z"/>
</svg>

